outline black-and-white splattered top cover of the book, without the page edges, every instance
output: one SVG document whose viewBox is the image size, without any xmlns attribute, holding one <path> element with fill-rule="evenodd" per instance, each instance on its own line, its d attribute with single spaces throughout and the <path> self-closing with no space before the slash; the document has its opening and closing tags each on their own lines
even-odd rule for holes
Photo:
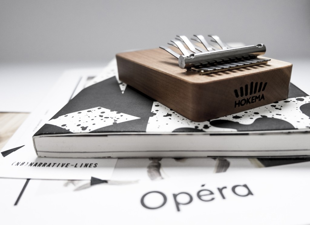
<svg viewBox="0 0 310 225">
<path fill-rule="evenodd" d="M 309 130 L 309 116 L 310 97 L 290 84 L 286 100 L 210 121 L 193 122 L 120 82 L 116 65 L 110 64 L 105 73 L 95 77 L 39 129 L 33 139 L 106 134 L 121 138 L 124 134 L 290 133 Z M 35 147 L 38 153 L 40 149 L 36 144 Z"/>
</svg>

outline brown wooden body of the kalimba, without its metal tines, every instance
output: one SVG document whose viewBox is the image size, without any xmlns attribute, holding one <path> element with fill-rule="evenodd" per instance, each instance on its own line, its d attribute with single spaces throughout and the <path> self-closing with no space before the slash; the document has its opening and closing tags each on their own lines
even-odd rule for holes
<svg viewBox="0 0 310 225">
<path fill-rule="evenodd" d="M 272 59 L 201 76 L 179 68 L 178 60 L 159 48 L 120 53 L 116 58 L 120 80 L 197 122 L 286 99 L 292 70 L 291 63 Z M 259 89 L 264 84 L 266 89 Z M 255 90 L 251 94 L 250 87 Z"/>
</svg>

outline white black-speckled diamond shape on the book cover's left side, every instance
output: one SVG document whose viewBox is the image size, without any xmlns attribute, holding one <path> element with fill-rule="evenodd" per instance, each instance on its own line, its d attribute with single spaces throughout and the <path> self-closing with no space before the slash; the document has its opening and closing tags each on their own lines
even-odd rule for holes
<svg viewBox="0 0 310 225">
<path fill-rule="evenodd" d="M 123 123 L 134 119 L 140 118 L 103 107 L 96 107 L 62 115 L 56 119 L 51 119 L 47 123 L 73 133 L 86 133 L 114 123 Z"/>
</svg>

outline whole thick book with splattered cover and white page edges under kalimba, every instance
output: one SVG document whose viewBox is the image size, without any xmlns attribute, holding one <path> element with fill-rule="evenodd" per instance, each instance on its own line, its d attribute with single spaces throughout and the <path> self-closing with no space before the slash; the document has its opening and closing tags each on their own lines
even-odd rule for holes
<svg viewBox="0 0 310 225">
<path fill-rule="evenodd" d="M 116 63 L 33 135 L 39 157 L 290 157 L 310 155 L 310 96 L 193 122 L 118 80 Z"/>
</svg>

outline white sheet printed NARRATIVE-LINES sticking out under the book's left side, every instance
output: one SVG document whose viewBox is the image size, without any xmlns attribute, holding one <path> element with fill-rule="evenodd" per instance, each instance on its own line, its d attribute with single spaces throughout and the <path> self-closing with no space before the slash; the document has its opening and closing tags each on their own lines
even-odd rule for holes
<svg viewBox="0 0 310 225">
<path fill-rule="evenodd" d="M 84 88 L 87 79 L 93 76 L 96 76 L 93 70 L 70 70 L 50 93 L 41 93 L 46 98 L 1 150 L 0 177 L 66 180 L 111 177 L 117 159 L 38 158 L 32 143 L 33 134 Z"/>
</svg>

